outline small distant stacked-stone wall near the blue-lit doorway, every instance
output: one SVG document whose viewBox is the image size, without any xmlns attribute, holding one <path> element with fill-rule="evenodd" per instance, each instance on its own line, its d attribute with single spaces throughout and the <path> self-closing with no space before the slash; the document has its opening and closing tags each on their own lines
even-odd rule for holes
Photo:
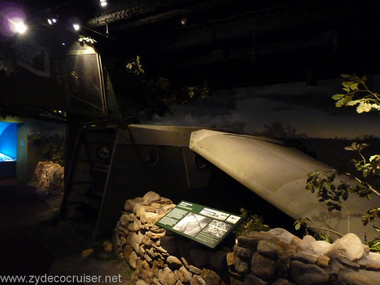
<svg viewBox="0 0 380 285">
<path fill-rule="evenodd" d="M 53 195 L 61 195 L 63 193 L 64 167 L 58 163 L 40 161 L 34 174 L 40 188 L 46 188 Z"/>
</svg>

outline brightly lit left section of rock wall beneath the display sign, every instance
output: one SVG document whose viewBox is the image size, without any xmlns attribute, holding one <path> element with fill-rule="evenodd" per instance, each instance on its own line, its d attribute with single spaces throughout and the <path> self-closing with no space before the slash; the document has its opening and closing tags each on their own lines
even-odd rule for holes
<svg viewBox="0 0 380 285">
<path fill-rule="evenodd" d="M 229 283 L 226 256 L 231 248 L 211 250 L 155 226 L 174 207 L 170 199 L 152 191 L 125 202 L 113 245 L 116 254 L 136 269 L 132 282 L 138 285 Z"/>
</svg>

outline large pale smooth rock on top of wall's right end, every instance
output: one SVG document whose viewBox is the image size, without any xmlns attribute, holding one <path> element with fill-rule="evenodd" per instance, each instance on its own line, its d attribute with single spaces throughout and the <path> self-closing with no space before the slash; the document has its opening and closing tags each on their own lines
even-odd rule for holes
<svg viewBox="0 0 380 285">
<path fill-rule="evenodd" d="M 330 258 L 344 257 L 349 261 L 356 261 L 363 257 L 364 248 L 362 241 L 355 234 L 349 233 L 335 240 L 326 250 L 325 255 Z"/>
</svg>

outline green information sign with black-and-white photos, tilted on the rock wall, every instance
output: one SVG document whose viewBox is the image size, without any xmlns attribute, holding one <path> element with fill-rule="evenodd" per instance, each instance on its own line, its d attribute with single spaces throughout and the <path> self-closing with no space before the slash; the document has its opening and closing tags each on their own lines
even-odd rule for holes
<svg viewBox="0 0 380 285">
<path fill-rule="evenodd" d="M 244 217 L 187 201 L 181 201 L 156 225 L 215 248 Z"/>
</svg>

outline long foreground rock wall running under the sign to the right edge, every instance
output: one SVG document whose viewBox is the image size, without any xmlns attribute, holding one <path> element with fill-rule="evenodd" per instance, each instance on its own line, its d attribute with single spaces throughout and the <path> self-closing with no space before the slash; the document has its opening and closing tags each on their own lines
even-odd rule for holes
<svg viewBox="0 0 380 285">
<path fill-rule="evenodd" d="M 154 225 L 174 208 L 147 192 L 127 200 L 113 235 L 137 285 L 378 285 L 380 254 L 354 234 L 330 244 L 284 229 L 251 232 L 211 250 Z"/>
</svg>

